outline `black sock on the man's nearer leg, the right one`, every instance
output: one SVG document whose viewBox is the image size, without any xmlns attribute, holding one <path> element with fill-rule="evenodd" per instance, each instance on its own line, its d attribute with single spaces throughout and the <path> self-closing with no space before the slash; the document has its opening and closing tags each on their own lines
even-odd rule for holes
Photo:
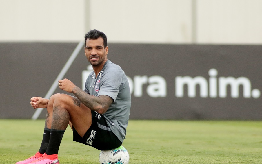
<svg viewBox="0 0 262 164">
<path fill-rule="evenodd" d="M 46 150 L 47 155 L 58 154 L 59 146 L 65 130 L 51 129 L 50 140 Z"/>
</svg>

